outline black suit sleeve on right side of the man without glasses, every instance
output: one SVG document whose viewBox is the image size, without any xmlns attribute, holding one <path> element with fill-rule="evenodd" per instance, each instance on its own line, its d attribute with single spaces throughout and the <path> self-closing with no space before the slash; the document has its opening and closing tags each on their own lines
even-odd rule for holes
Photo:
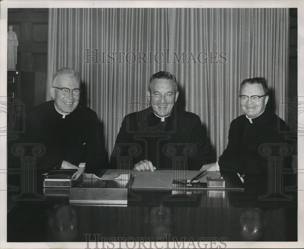
<svg viewBox="0 0 304 249">
<path fill-rule="evenodd" d="M 196 147 L 196 154 L 189 158 L 189 170 L 199 170 L 210 162 L 210 148 L 206 133 L 199 116 L 195 117 L 191 132 L 191 143 Z"/>
</svg>

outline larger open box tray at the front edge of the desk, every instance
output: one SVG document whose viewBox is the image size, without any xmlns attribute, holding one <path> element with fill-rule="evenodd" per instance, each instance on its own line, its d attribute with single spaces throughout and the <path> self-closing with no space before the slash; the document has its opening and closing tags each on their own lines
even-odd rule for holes
<svg viewBox="0 0 304 249">
<path fill-rule="evenodd" d="M 81 179 L 81 182 L 70 188 L 70 204 L 127 204 L 130 175 L 106 179 L 94 174 L 83 174 Z"/>
</svg>

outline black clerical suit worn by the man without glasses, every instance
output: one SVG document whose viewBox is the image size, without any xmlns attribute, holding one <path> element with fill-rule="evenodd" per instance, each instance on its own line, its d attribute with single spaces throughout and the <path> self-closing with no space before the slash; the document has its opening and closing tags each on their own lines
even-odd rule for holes
<svg viewBox="0 0 304 249">
<path fill-rule="evenodd" d="M 156 169 L 173 169 L 173 161 L 192 170 L 209 163 L 209 143 L 199 116 L 173 108 L 163 119 L 152 107 L 126 115 L 115 142 L 120 153 L 112 153 L 111 167 L 117 168 L 116 159 L 122 158 L 132 158 L 132 168 L 145 159 Z"/>
</svg>

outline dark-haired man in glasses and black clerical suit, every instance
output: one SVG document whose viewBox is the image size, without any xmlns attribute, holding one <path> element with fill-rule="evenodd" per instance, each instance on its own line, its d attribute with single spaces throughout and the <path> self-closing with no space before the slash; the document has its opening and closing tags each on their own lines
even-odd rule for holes
<svg viewBox="0 0 304 249">
<path fill-rule="evenodd" d="M 261 144 L 285 144 L 285 122 L 266 109 L 269 99 L 267 80 L 245 79 L 240 86 L 240 105 L 245 112 L 230 123 L 228 145 L 219 161 L 204 165 L 201 170 L 233 171 L 241 175 L 258 175 L 268 171 L 268 157 L 261 155 Z"/>
</svg>

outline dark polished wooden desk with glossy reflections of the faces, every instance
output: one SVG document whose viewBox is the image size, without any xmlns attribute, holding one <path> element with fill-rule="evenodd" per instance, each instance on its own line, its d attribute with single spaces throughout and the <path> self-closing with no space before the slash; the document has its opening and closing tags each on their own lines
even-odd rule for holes
<svg viewBox="0 0 304 249">
<path fill-rule="evenodd" d="M 85 242 L 85 234 L 100 234 L 99 241 L 296 241 L 296 192 L 288 192 L 292 200 L 261 201 L 267 192 L 261 186 L 251 182 L 245 191 L 189 191 L 178 198 L 172 191 L 133 191 L 127 206 L 68 205 L 64 197 L 20 201 L 7 215 L 7 241 Z"/>
</svg>

